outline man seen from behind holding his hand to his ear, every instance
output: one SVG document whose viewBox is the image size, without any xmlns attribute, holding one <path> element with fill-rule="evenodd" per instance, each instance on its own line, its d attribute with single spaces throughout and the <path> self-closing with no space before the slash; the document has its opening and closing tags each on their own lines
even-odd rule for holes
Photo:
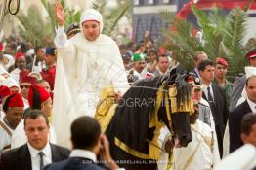
<svg viewBox="0 0 256 170">
<path fill-rule="evenodd" d="M 84 116 L 75 119 L 71 124 L 71 142 L 73 151 L 67 160 L 48 165 L 45 170 L 103 170 L 117 169 L 112 160 L 107 137 L 101 134 L 101 126 L 96 119 Z M 101 163 L 96 164 L 97 155 Z M 106 165 L 105 164 L 105 165 Z"/>
</svg>

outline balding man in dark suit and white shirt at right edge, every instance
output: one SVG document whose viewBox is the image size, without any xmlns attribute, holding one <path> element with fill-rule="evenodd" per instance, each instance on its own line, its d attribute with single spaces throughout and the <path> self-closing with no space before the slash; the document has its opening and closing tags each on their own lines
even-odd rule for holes
<svg viewBox="0 0 256 170">
<path fill-rule="evenodd" d="M 230 153 L 243 145 L 241 140 L 241 119 L 244 115 L 253 112 L 256 113 L 256 76 L 246 79 L 245 90 L 247 99 L 238 105 L 229 117 L 230 130 Z"/>
</svg>

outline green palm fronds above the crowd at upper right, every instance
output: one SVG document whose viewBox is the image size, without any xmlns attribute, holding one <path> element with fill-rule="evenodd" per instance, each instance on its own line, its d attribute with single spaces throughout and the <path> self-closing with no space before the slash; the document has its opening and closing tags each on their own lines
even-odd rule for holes
<svg viewBox="0 0 256 170">
<path fill-rule="evenodd" d="M 246 65 L 244 54 L 250 50 L 242 44 L 246 32 L 245 12 L 234 9 L 225 16 L 223 11 L 213 8 L 207 15 L 195 6 L 192 6 L 192 12 L 197 19 L 196 28 L 189 21 L 178 19 L 175 14 L 160 13 L 175 29 L 164 31 L 167 37 L 165 46 L 171 48 L 174 57 L 190 69 L 195 51 L 205 51 L 212 60 L 225 57 L 229 61 L 228 76 L 233 79 Z M 193 34 L 194 29 L 202 32 L 202 40 Z"/>
</svg>

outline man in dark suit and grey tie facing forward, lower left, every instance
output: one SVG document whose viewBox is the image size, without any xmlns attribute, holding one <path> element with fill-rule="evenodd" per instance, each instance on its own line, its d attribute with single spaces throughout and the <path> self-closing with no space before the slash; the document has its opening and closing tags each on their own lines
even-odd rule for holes
<svg viewBox="0 0 256 170">
<path fill-rule="evenodd" d="M 32 110 L 24 118 L 27 143 L 1 153 L 1 170 L 42 170 L 43 166 L 61 161 L 70 151 L 49 143 L 49 121 L 40 110 Z"/>
</svg>

